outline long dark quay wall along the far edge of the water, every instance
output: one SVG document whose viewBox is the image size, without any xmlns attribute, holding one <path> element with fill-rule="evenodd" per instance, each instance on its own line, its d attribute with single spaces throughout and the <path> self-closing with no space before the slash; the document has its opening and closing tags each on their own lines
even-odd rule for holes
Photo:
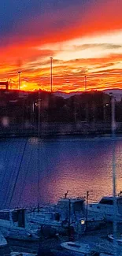
<svg viewBox="0 0 122 256">
<path fill-rule="evenodd" d="M 0 127 L 0 137 L 11 136 L 37 136 L 37 124 L 11 124 Z M 116 133 L 122 133 L 122 123 L 116 123 Z M 41 123 L 40 136 L 46 135 L 108 135 L 111 134 L 110 123 Z"/>
</svg>

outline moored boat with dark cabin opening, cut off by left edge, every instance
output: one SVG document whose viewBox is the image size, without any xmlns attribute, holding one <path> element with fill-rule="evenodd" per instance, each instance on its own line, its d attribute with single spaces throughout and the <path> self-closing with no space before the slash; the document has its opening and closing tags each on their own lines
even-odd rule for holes
<svg viewBox="0 0 122 256">
<path fill-rule="evenodd" d="M 38 240 L 35 230 L 26 225 L 25 210 L 0 210 L 0 230 L 6 238 L 28 241 Z"/>
</svg>

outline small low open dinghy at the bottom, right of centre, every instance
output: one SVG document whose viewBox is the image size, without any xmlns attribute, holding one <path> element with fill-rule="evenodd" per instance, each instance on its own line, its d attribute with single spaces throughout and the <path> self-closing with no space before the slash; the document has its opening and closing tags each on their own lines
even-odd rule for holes
<svg viewBox="0 0 122 256">
<path fill-rule="evenodd" d="M 79 253 L 81 256 L 98 256 L 98 252 L 92 250 L 88 243 L 64 242 L 61 247 Z"/>
</svg>

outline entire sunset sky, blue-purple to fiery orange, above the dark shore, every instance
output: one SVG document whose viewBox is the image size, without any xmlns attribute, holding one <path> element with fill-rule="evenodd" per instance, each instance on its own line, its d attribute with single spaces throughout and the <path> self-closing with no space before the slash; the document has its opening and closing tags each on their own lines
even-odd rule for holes
<svg viewBox="0 0 122 256">
<path fill-rule="evenodd" d="M 11 88 L 122 88 L 122 0 L 1 0 L 0 80 Z"/>
</svg>

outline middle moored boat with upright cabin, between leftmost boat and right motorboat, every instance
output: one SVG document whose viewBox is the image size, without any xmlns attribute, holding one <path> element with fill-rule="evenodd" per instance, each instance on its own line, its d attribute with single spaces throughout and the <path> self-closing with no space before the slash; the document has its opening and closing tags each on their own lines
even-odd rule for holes
<svg viewBox="0 0 122 256">
<path fill-rule="evenodd" d="M 74 232 L 82 234 L 85 230 L 84 198 L 61 198 L 54 206 L 28 213 L 27 220 L 37 227 L 55 228 L 58 233 L 72 227 Z"/>
</svg>

